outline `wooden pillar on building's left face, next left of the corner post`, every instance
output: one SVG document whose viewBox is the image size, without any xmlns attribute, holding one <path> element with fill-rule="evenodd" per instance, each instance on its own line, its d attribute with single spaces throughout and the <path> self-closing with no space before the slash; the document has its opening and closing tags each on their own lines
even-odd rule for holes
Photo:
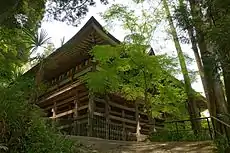
<svg viewBox="0 0 230 153">
<path fill-rule="evenodd" d="M 80 129 L 78 127 L 78 105 L 79 105 L 79 91 L 77 91 L 75 100 L 74 100 L 74 114 L 73 114 L 73 119 L 74 119 L 74 135 L 79 135 Z"/>
</svg>

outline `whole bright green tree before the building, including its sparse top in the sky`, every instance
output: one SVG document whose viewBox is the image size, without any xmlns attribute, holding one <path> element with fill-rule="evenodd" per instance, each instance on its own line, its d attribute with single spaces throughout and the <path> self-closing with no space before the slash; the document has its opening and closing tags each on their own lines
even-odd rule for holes
<svg viewBox="0 0 230 153">
<path fill-rule="evenodd" d="M 122 93 L 128 100 L 144 102 L 146 111 L 153 117 L 161 113 L 178 117 L 184 110 L 185 95 L 172 79 L 175 65 L 166 55 L 148 54 L 147 44 L 157 24 L 153 21 L 159 20 L 149 18 L 145 11 L 141 13 L 142 18 L 136 17 L 134 11 L 123 5 L 113 5 L 105 12 L 107 21 L 122 21 L 130 34 L 124 44 L 96 46 L 92 56 L 99 62 L 100 70 L 88 73 L 84 79 L 93 92 Z"/>
</svg>

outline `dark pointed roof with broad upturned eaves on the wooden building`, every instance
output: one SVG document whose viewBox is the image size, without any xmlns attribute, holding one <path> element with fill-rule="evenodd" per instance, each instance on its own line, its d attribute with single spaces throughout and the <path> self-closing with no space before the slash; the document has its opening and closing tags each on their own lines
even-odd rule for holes
<svg viewBox="0 0 230 153">
<path fill-rule="evenodd" d="M 94 45 L 119 43 L 118 39 L 107 32 L 94 17 L 91 17 L 77 34 L 44 60 L 44 79 L 50 80 L 88 58 L 88 51 Z M 34 74 L 39 67 L 37 64 L 26 74 Z"/>
</svg>

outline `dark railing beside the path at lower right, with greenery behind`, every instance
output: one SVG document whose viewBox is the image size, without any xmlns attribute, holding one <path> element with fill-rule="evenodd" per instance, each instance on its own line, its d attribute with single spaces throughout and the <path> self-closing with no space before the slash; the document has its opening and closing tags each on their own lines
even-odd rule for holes
<svg viewBox="0 0 230 153">
<path fill-rule="evenodd" d="M 191 121 L 197 121 L 201 128 L 193 130 Z M 230 125 L 210 116 L 188 120 L 164 122 L 162 130 L 152 133 L 152 141 L 206 141 L 213 140 L 219 152 L 230 150 Z M 218 128 L 217 128 L 218 127 Z"/>
</svg>

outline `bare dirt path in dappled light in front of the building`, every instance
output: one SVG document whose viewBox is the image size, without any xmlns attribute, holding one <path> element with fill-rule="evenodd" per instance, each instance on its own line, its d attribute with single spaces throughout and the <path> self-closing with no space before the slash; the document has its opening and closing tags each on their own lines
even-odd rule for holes
<svg viewBox="0 0 230 153">
<path fill-rule="evenodd" d="M 214 153 L 210 141 L 202 142 L 131 142 L 70 136 L 95 153 Z"/>
</svg>

